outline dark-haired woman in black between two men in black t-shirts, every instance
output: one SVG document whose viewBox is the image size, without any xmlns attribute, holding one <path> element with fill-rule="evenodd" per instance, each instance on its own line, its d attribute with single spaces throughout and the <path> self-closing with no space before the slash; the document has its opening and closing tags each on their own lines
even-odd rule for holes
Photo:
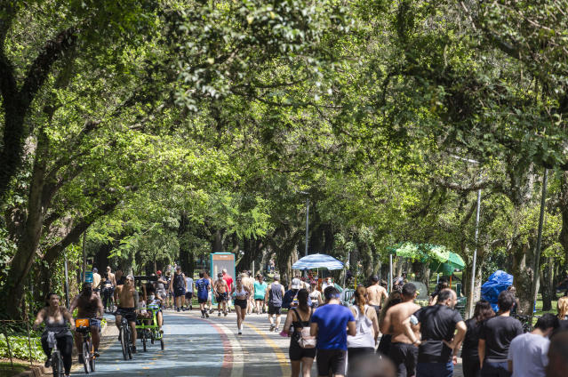
<svg viewBox="0 0 568 377">
<path fill-rule="evenodd" d="M 469 318 L 466 321 L 468 332 L 463 340 L 463 348 L 461 349 L 464 377 L 481 376 L 481 370 L 479 369 L 479 354 L 477 352 L 479 332 L 481 331 L 484 321 L 494 316 L 495 312 L 491 309 L 489 301 L 480 300 L 476 303 L 474 317 Z"/>
</svg>

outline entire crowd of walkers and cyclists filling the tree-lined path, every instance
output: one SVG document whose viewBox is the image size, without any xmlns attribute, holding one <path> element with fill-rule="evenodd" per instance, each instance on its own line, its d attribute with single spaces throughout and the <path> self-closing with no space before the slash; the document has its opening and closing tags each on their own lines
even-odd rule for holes
<svg viewBox="0 0 568 377">
<path fill-rule="evenodd" d="M 103 277 L 93 269 L 92 283 L 71 302 L 70 309 L 60 306 L 60 297 L 50 293 L 44 309 L 37 314 L 37 327 L 44 322 L 42 345 L 48 356 L 46 334 L 55 333 L 64 361 L 65 373 L 71 367 L 74 319 L 92 318 L 92 342 L 99 354 L 100 323 L 109 303 L 116 302 L 116 324 L 126 317 L 132 326 L 136 344 L 137 317 L 149 316 L 146 308 L 158 305 L 175 311 L 193 309 L 194 293 L 202 318 L 215 309 L 218 317 L 227 316 L 234 306 L 236 328 L 244 332 L 244 320 L 256 313 L 268 314 L 269 332 L 290 337 L 289 358 L 292 376 L 308 377 L 316 362 L 319 376 L 450 377 L 458 357 L 464 377 L 559 377 L 568 375 L 568 297 L 558 300 L 557 316 L 540 317 L 530 333 L 511 313 L 518 307 L 514 289 L 501 292 L 498 311 L 488 301 L 476 302 L 474 315 L 464 320 L 455 309 L 457 293 L 448 285 L 436 287 L 428 306 L 415 303 L 417 288 L 412 283 L 398 283 L 390 293 L 379 277 L 370 277 L 369 285 L 356 287 L 351 305 L 341 301 L 340 287 L 331 278 L 292 278 L 284 286 L 276 273 L 269 284 L 265 277 L 244 271 L 233 279 L 221 270 L 212 280 L 200 271 L 194 282 L 176 267 L 172 274 L 156 271 L 148 283 L 136 288 L 134 277 L 124 277 L 121 270 L 110 268 Z M 213 307 L 213 302 L 217 304 Z M 164 317 L 157 321 L 162 332 Z M 288 309 L 280 331 L 283 309 Z M 75 334 L 82 361 L 80 333 Z M 135 347 L 132 349 L 136 351 Z M 380 370 L 376 369 L 380 365 Z M 375 368 L 375 369 L 373 369 Z M 371 374 L 363 371 L 372 371 Z M 373 374 L 374 373 L 374 374 Z"/>
</svg>

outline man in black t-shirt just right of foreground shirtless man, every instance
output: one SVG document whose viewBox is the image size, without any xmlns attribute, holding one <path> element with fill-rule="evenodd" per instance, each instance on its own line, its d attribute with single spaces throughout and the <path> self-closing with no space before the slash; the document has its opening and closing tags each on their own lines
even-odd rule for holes
<svg viewBox="0 0 568 377">
<path fill-rule="evenodd" d="M 436 305 L 419 309 L 407 322 L 409 334 L 411 324 L 420 324 L 417 377 L 452 377 L 461 341 L 468 330 L 460 312 L 454 309 L 458 295 L 448 288 L 436 298 Z"/>
</svg>

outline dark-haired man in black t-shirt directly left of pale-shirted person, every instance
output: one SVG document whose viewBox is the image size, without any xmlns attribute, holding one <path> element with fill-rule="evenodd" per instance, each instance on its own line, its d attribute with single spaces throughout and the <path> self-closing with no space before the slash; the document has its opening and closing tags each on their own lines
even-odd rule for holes
<svg viewBox="0 0 568 377">
<path fill-rule="evenodd" d="M 499 315 L 485 321 L 479 333 L 479 366 L 482 377 L 510 376 L 508 372 L 508 346 L 523 333 L 523 325 L 510 317 L 515 296 L 509 291 L 499 293 Z"/>
</svg>

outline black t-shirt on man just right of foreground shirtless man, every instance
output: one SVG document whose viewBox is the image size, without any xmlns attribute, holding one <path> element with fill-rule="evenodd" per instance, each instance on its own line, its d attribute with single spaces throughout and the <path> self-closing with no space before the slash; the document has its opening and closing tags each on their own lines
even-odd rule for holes
<svg viewBox="0 0 568 377">
<path fill-rule="evenodd" d="M 418 348 L 419 363 L 447 363 L 452 349 L 444 341 L 452 341 L 456 324 L 463 321 L 458 310 L 445 305 L 420 308 L 414 313 L 420 322 L 422 341 Z"/>
</svg>

